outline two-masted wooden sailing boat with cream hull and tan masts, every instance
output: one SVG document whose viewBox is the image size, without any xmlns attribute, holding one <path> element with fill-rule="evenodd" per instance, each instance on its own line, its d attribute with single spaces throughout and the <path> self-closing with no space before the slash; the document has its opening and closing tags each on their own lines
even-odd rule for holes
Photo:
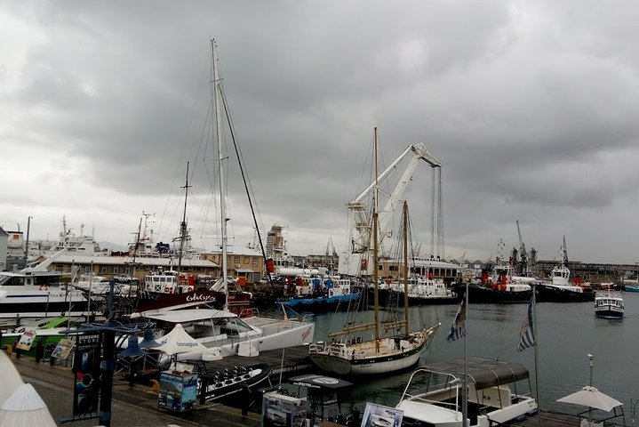
<svg viewBox="0 0 639 427">
<path fill-rule="evenodd" d="M 402 371 L 413 367 L 421 354 L 427 350 L 435 336 L 439 324 L 411 330 L 408 310 L 408 205 L 403 204 L 403 278 L 404 295 L 403 319 L 399 319 L 398 310 L 388 310 L 388 318 L 382 321 L 379 316 L 379 246 L 378 246 L 378 171 L 377 171 L 377 128 L 374 133 L 375 186 L 371 210 L 372 220 L 372 278 L 374 286 L 373 321 L 361 325 L 347 325 L 341 331 L 329 334 L 331 342 L 316 342 L 309 346 L 311 361 L 323 371 L 333 375 L 380 375 Z M 386 333 L 381 334 L 384 327 Z M 363 332 L 374 331 L 372 339 L 362 336 Z M 339 340 L 336 340 L 339 338 Z"/>
</svg>

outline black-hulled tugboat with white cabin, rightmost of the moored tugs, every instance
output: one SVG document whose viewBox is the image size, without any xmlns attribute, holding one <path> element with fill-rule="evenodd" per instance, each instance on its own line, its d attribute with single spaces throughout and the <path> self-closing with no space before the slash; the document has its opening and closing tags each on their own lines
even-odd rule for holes
<svg viewBox="0 0 639 427">
<path fill-rule="evenodd" d="M 595 292 L 592 287 L 584 286 L 580 280 L 571 285 L 571 270 L 568 269 L 568 250 L 566 237 L 560 248 L 562 262 L 550 272 L 550 280 L 539 281 L 535 284 L 538 302 L 593 302 Z"/>
</svg>

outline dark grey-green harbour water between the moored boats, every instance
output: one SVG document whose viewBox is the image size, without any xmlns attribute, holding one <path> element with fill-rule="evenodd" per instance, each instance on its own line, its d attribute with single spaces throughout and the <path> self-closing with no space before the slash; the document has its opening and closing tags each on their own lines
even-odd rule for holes
<svg viewBox="0 0 639 427">
<path fill-rule="evenodd" d="M 625 318 L 595 318 L 594 302 L 540 302 L 537 309 L 537 372 L 535 349 L 517 351 L 519 333 L 528 310 L 527 303 L 470 304 L 467 313 L 468 356 L 519 362 L 531 375 L 532 395 L 539 378 L 539 407 L 576 414 L 586 408 L 557 403 L 556 400 L 579 391 L 590 383 L 624 404 L 627 422 L 639 399 L 639 293 L 623 293 Z M 464 357 L 464 342 L 447 342 L 446 336 L 459 305 L 411 307 L 411 325 L 441 326 L 420 365 Z M 383 313 L 382 313 L 383 314 Z M 339 329 L 346 313 L 316 315 L 316 341 Z M 347 407 L 363 408 L 365 402 L 394 407 L 411 372 L 387 377 L 366 378 L 348 392 Z"/>
</svg>

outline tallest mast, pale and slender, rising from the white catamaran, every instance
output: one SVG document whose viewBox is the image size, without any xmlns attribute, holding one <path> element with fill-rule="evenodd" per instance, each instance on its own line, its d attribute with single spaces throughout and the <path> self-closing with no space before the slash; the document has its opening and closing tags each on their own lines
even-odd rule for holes
<svg viewBox="0 0 639 427">
<path fill-rule="evenodd" d="M 226 183 L 224 182 L 224 161 L 222 157 L 222 113 L 221 113 L 221 80 L 220 70 L 218 67 L 218 52 L 215 40 L 211 40 L 211 47 L 213 52 L 213 100 L 215 103 L 215 127 L 217 133 L 217 145 L 218 145 L 218 167 L 220 169 L 220 234 L 222 240 L 221 247 L 221 267 L 222 267 L 222 284 L 223 292 L 227 295 L 227 299 L 224 302 L 224 310 L 228 310 L 228 268 L 227 268 L 227 204 L 224 194 Z"/>
</svg>

